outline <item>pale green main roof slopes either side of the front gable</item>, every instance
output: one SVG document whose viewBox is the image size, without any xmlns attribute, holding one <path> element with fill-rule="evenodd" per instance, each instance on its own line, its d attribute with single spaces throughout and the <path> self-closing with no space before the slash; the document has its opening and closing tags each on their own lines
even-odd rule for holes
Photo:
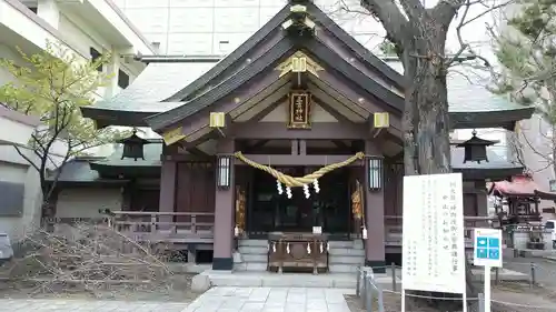
<svg viewBox="0 0 556 312">
<path fill-rule="evenodd" d="M 385 60 L 393 69 L 403 71 L 399 61 L 391 58 Z M 187 102 L 182 101 L 163 100 L 214 67 L 214 62 L 189 62 L 179 59 L 173 62 L 151 62 L 127 89 L 109 100 L 82 108 L 83 114 L 99 121 L 108 120 L 109 124 L 147 125 L 146 118 L 186 104 Z M 503 123 L 498 127 L 513 129 L 513 122 L 505 120 L 528 119 L 534 112 L 533 107 L 524 107 L 493 94 L 486 89 L 484 81 L 473 81 L 460 73 L 450 72 L 447 87 L 450 118 L 457 121 L 456 128 L 459 129 L 496 127 L 493 123 Z M 481 121 L 486 119 L 486 127 L 474 124 L 477 118 Z"/>
</svg>

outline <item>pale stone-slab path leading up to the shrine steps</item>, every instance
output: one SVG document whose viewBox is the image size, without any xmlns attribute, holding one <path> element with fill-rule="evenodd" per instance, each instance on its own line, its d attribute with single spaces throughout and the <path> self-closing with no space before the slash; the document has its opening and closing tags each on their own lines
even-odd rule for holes
<svg viewBox="0 0 556 312">
<path fill-rule="evenodd" d="M 319 288 L 212 288 L 183 312 L 349 312 L 344 294 Z"/>
</svg>

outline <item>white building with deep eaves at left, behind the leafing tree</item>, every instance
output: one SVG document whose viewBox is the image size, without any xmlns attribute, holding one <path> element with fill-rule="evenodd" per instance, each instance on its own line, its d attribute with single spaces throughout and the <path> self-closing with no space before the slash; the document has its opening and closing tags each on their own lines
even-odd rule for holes
<svg viewBox="0 0 556 312">
<path fill-rule="evenodd" d="M 102 71 L 113 78 L 97 91 L 98 98 L 118 93 L 145 69 L 133 56 L 157 53 L 110 0 L 0 0 L 0 58 L 23 64 L 16 47 L 32 54 L 47 42 L 59 42 L 83 59 L 112 53 Z M 0 70 L 0 83 L 10 80 L 10 73 Z M 40 221 L 38 172 L 10 145 L 32 157 L 26 145 L 38 124 L 32 117 L 0 108 L 0 232 L 12 240 Z"/>
</svg>

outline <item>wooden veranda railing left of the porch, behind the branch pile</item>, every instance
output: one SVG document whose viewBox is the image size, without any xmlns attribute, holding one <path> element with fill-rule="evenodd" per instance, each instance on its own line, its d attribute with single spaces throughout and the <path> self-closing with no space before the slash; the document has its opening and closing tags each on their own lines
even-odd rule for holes
<svg viewBox="0 0 556 312">
<path fill-rule="evenodd" d="M 211 243 L 215 213 L 111 211 L 108 224 L 136 240 Z"/>
</svg>

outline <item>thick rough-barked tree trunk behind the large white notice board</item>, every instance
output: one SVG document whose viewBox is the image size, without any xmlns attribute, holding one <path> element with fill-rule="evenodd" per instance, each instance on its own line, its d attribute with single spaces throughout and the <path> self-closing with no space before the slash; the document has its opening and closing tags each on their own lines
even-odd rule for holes
<svg viewBox="0 0 556 312">
<path fill-rule="evenodd" d="M 448 173 L 450 165 L 448 94 L 446 88 L 444 40 L 430 38 L 421 47 L 404 51 L 406 89 L 404 112 L 404 163 L 406 174 Z M 406 44 L 408 47 L 408 44 Z M 471 264 L 466 261 L 466 289 L 468 298 L 477 296 Z M 454 302 L 435 301 L 439 309 L 454 309 Z M 469 311 L 476 311 L 473 301 Z"/>
</svg>

